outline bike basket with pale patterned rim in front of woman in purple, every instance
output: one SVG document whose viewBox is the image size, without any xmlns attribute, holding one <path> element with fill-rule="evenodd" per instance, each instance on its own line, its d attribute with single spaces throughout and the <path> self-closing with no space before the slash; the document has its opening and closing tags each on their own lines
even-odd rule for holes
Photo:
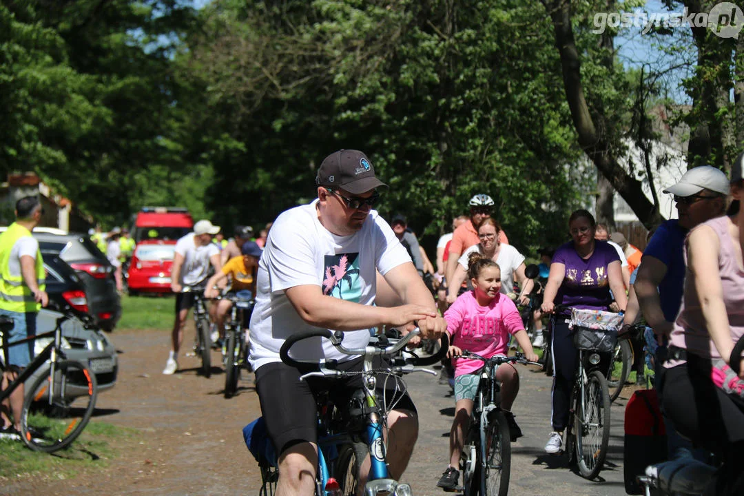
<svg viewBox="0 0 744 496">
<path fill-rule="evenodd" d="M 577 350 L 612 352 L 618 342 L 623 315 L 602 310 L 571 309 L 568 328 Z"/>
</svg>

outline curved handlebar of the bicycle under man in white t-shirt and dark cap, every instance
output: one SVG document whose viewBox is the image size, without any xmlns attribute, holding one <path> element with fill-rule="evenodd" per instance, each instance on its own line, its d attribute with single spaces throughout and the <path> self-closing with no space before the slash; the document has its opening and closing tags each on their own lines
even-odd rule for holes
<svg viewBox="0 0 744 496">
<path fill-rule="evenodd" d="M 281 361 L 283 361 L 285 364 L 291 366 L 291 367 L 307 367 L 308 365 L 312 365 L 315 367 L 319 367 L 321 365 L 326 365 L 330 367 L 334 367 L 338 361 L 331 358 L 331 359 L 323 359 L 320 363 L 318 363 L 317 360 L 296 360 L 295 358 L 292 358 L 289 356 L 289 350 L 292 348 L 292 345 L 297 343 L 298 341 L 302 341 L 304 339 L 308 338 L 326 338 L 330 340 L 331 344 L 333 344 L 334 347 L 336 347 L 336 350 L 339 350 L 339 352 L 343 353 L 344 355 L 379 355 L 379 356 L 391 356 L 395 353 L 399 352 L 400 350 L 405 347 L 406 344 L 408 344 L 408 341 L 411 341 L 412 338 L 414 338 L 417 335 L 420 335 L 420 329 L 417 327 L 416 329 L 412 330 L 411 332 L 408 332 L 408 335 L 405 335 L 403 338 L 400 338 L 396 343 L 391 344 L 386 347 L 373 347 L 373 346 L 367 346 L 364 348 L 356 348 L 356 349 L 349 349 L 344 347 L 341 344 L 341 341 L 344 341 L 344 332 L 343 331 L 331 331 L 330 329 L 309 329 L 307 331 L 302 332 L 295 332 L 295 334 L 290 335 L 289 338 L 286 338 L 286 341 L 282 344 L 280 350 L 279 350 L 279 357 L 281 358 Z M 387 341 L 387 338 L 380 340 L 379 344 L 384 346 L 389 341 Z M 442 336 L 442 345 L 440 347 L 439 352 L 436 354 L 428 357 L 428 358 L 405 358 L 405 364 L 409 365 L 429 365 L 437 363 L 437 361 L 440 361 L 441 358 L 445 355 L 447 352 L 447 349 L 449 347 L 449 340 L 446 338 L 446 334 Z"/>
</svg>

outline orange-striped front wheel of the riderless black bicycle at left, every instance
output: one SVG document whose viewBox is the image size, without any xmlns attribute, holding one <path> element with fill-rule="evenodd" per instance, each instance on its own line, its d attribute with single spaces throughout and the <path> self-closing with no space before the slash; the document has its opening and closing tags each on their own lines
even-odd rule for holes
<svg viewBox="0 0 744 496">
<path fill-rule="evenodd" d="M 94 373 L 77 361 L 57 362 L 54 378 L 51 370 L 37 377 L 26 391 L 21 412 L 26 445 L 46 453 L 70 445 L 91 418 L 97 389 Z"/>
</svg>

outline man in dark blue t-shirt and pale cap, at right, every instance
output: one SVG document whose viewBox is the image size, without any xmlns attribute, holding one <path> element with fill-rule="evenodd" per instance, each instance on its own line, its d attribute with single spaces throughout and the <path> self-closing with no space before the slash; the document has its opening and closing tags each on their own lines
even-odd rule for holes
<svg viewBox="0 0 744 496">
<path fill-rule="evenodd" d="M 696 225 L 725 213 L 728 190 L 726 175 L 709 165 L 693 167 L 677 184 L 664 190 L 674 195 L 679 219 L 667 220 L 658 227 L 641 258 L 634 285 L 641 312 L 661 343 L 656 351 L 657 370 L 667 358 L 667 338 L 682 305 L 684 239 Z M 659 377 L 656 376 L 655 384 L 660 383 Z M 667 424 L 670 458 L 673 458 L 685 446 L 669 427 Z"/>
</svg>

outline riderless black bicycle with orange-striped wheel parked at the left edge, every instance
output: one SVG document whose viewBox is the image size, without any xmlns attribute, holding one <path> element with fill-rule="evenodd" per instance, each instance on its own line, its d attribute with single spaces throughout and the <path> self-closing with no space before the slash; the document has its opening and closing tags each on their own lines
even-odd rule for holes
<svg viewBox="0 0 744 496">
<path fill-rule="evenodd" d="M 13 321 L 0 316 L 4 356 L 7 356 L 7 349 L 10 347 L 28 346 L 31 341 L 48 341 L 36 358 L 19 373 L 17 379 L 0 391 L 0 401 L 4 401 L 20 384 L 25 384 L 33 373 L 44 370 L 31 387 L 26 388 L 20 436 L 29 448 L 46 453 L 66 448 L 80 436 L 88 425 L 97 399 L 95 374 L 86 364 L 68 360 L 65 355 L 65 349 L 70 344 L 62 335 L 62 323 L 76 317 L 68 307 L 59 310 L 62 316 L 57 319 L 53 331 L 42 332 L 13 343 L 7 342 L 7 332 L 13 329 Z M 0 370 L 3 372 L 10 370 L 5 363 L 0 363 Z"/>
</svg>

